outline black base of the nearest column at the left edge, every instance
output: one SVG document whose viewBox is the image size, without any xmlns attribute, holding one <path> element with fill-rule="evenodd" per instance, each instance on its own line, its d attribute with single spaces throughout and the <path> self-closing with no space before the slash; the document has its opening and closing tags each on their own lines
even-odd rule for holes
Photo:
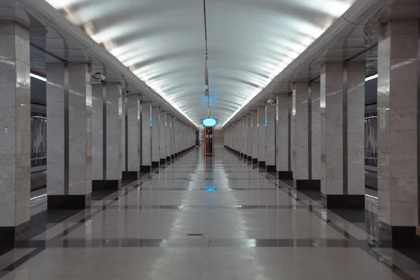
<svg viewBox="0 0 420 280">
<path fill-rule="evenodd" d="M 13 227 L 0 227 L 0 255 L 29 239 L 29 221 Z"/>
</svg>

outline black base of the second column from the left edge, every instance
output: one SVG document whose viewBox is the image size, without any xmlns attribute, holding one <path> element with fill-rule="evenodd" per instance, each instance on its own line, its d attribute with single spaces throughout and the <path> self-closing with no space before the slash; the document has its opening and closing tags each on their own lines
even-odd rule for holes
<svg viewBox="0 0 420 280">
<path fill-rule="evenodd" d="M 47 209 L 86 209 L 90 207 L 88 195 L 48 195 Z"/>
</svg>

